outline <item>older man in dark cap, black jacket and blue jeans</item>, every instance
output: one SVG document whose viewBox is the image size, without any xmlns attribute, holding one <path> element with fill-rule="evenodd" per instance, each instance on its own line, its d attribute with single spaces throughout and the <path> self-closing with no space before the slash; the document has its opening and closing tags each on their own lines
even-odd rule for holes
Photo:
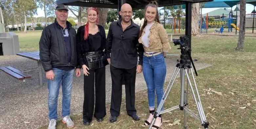
<svg viewBox="0 0 256 129">
<path fill-rule="evenodd" d="M 50 123 L 48 129 L 55 129 L 60 85 L 62 85 L 62 122 L 75 127 L 70 119 L 70 102 L 73 76 L 77 68 L 76 31 L 67 21 L 68 8 L 58 5 L 55 21 L 46 26 L 39 41 L 40 59 L 46 72 L 48 84 L 48 108 Z M 80 69 L 76 69 L 80 75 Z"/>
</svg>

